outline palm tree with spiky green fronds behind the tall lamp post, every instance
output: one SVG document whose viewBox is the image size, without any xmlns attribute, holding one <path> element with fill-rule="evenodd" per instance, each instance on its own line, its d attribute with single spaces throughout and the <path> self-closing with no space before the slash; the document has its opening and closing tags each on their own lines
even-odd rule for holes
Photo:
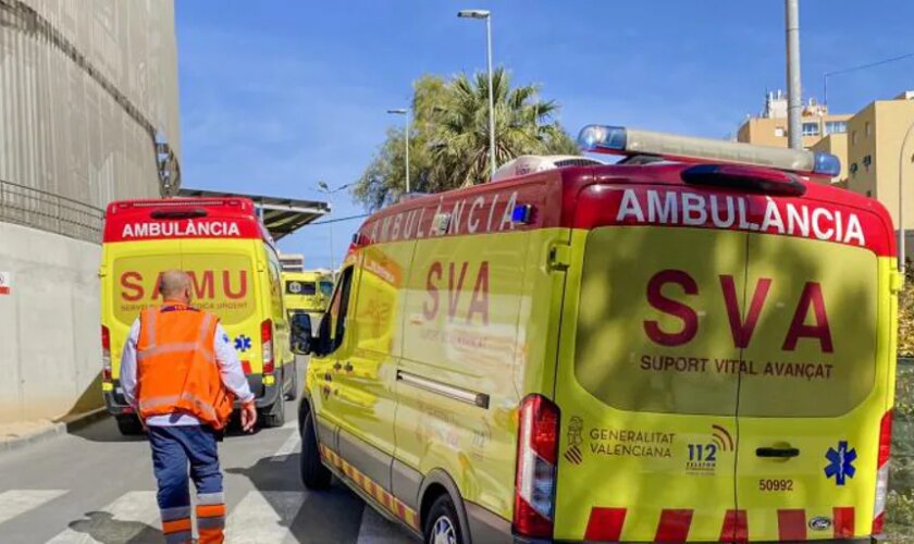
<svg viewBox="0 0 914 544">
<path fill-rule="evenodd" d="M 558 107 L 539 101 L 538 85 L 510 87 L 510 76 L 498 69 L 492 76 L 495 102 L 495 162 L 521 154 L 567 152 L 568 136 L 551 122 Z M 432 163 L 436 176 L 452 186 L 484 183 L 490 176 L 489 78 L 477 74 L 456 76 L 446 86 L 443 103 L 433 110 L 430 124 Z"/>
</svg>

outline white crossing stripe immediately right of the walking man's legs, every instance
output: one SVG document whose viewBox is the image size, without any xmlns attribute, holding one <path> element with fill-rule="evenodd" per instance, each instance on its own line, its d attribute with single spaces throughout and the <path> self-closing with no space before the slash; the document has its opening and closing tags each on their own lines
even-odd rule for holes
<svg viewBox="0 0 914 544">
<path fill-rule="evenodd" d="M 299 491 L 249 492 L 228 515 L 225 542 L 269 544 L 294 539 L 289 526 L 306 496 Z"/>
</svg>

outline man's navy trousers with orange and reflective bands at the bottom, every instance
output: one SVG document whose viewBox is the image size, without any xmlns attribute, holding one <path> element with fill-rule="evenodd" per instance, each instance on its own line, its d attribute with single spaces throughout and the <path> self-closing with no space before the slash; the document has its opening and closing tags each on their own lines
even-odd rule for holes
<svg viewBox="0 0 914 544">
<path fill-rule="evenodd" d="M 200 542 L 221 542 L 225 498 L 215 431 L 201 425 L 150 425 L 148 434 L 165 542 L 190 541 L 192 479 L 197 489 Z"/>
</svg>

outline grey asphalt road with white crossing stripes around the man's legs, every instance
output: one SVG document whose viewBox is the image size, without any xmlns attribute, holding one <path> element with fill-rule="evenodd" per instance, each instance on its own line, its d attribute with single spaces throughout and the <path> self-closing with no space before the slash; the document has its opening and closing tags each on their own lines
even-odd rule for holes
<svg viewBox="0 0 914 544">
<path fill-rule="evenodd" d="M 286 410 L 284 428 L 220 444 L 226 542 L 411 542 L 338 482 L 304 490 L 295 403 Z M 0 542 L 161 542 L 159 527 L 149 445 L 112 419 L 0 456 Z"/>
</svg>

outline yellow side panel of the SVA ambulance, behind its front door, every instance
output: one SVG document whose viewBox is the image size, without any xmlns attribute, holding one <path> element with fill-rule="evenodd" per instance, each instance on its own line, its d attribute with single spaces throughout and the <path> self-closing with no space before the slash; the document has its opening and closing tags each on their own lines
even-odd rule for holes
<svg viewBox="0 0 914 544">
<path fill-rule="evenodd" d="M 420 509 L 423 480 L 446 474 L 474 537 L 510 532 L 517 407 L 527 387 L 552 395 L 554 351 L 544 359 L 560 293 L 548 257 L 567 231 L 557 227 L 558 176 L 534 180 L 430 206 L 429 215 L 449 218 L 447 232 L 418 238 L 408 271 L 394 463 L 403 486 L 395 491 Z M 535 210 L 530 222 L 512 222 L 522 206 Z"/>
</svg>

